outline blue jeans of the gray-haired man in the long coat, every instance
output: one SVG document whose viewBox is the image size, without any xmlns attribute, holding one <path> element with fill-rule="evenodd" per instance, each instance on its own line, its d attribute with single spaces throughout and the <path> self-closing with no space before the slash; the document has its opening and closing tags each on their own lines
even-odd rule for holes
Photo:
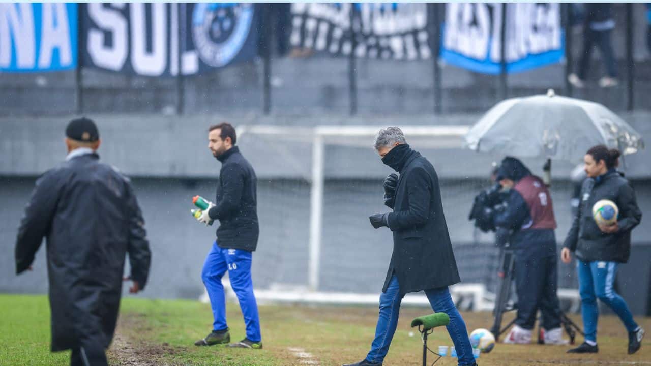
<svg viewBox="0 0 651 366">
<path fill-rule="evenodd" d="M 430 305 L 432 305 L 434 311 L 446 313 L 450 317 L 450 324 L 446 328 L 456 348 L 459 365 L 472 365 L 475 363 L 473 347 L 470 345 L 468 331 L 465 329 L 464 318 L 454 307 L 448 288 L 425 290 L 425 295 L 430 300 Z M 391 339 L 393 339 L 396 326 L 398 326 L 398 313 L 400 312 L 400 303 L 402 303 L 403 297 L 404 295 L 400 294 L 398 277 L 394 275 L 391 277 L 387 292 L 380 295 L 380 317 L 375 328 L 375 339 L 366 358 L 367 361 L 372 363 L 382 362 L 387 356 Z"/>
</svg>

